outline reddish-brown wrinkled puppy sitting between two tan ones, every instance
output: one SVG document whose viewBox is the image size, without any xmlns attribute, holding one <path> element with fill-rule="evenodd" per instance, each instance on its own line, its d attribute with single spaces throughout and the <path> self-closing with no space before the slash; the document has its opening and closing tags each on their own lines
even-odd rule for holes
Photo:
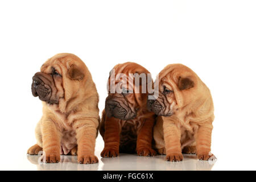
<svg viewBox="0 0 256 182">
<path fill-rule="evenodd" d="M 118 77 L 120 73 L 123 74 L 122 78 Z M 137 74 L 130 75 L 134 73 Z M 143 75 L 151 78 L 148 74 L 150 72 L 147 69 L 130 62 L 115 65 L 110 72 L 108 82 L 110 84 L 113 81 L 113 85 L 108 88 L 109 94 L 100 124 L 100 134 L 105 142 L 104 150 L 101 152 L 102 157 L 116 157 L 119 152 L 137 152 L 142 156 L 156 155 L 152 150 L 155 114 L 147 110 L 147 85 L 150 81 L 142 81 Z M 126 76 L 127 80 L 124 78 Z M 140 79 L 137 84 L 136 79 Z M 146 88 L 144 93 L 143 88 Z"/>
</svg>

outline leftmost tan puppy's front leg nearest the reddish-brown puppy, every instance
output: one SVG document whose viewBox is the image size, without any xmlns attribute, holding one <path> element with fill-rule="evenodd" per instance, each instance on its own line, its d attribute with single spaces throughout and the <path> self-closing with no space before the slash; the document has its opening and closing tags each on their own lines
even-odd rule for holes
<svg viewBox="0 0 256 182">
<path fill-rule="evenodd" d="M 98 163 L 98 158 L 94 155 L 98 119 L 80 119 L 73 127 L 76 129 L 77 136 L 77 162 L 80 164 Z"/>
</svg>

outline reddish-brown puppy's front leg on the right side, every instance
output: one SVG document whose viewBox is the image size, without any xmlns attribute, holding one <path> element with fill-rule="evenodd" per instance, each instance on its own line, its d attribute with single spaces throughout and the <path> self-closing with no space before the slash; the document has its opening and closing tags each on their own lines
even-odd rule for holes
<svg viewBox="0 0 256 182">
<path fill-rule="evenodd" d="M 145 119 L 139 130 L 137 137 L 137 154 L 140 156 L 155 156 L 156 152 L 152 149 L 152 129 L 154 119 Z"/>
</svg>

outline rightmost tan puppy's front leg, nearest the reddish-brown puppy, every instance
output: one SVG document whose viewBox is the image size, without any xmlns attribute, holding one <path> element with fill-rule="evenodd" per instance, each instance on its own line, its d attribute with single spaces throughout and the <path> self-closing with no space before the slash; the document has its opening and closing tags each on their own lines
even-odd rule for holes
<svg viewBox="0 0 256 182">
<path fill-rule="evenodd" d="M 164 142 L 166 143 L 166 160 L 181 161 L 181 132 L 170 118 L 163 117 Z"/>
</svg>

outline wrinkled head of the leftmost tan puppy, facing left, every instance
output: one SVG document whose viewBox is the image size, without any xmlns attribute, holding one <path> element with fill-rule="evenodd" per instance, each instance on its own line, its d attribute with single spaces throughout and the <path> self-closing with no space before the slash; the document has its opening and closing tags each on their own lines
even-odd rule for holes
<svg viewBox="0 0 256 182">
<path fill-rule="evenodd" d="M 32 77 L 33 96 L 50 105 L 59 104 L 61 99 L 70 99 L 84 78 L 81 71 L 84 65 L 80 62 L 77 56 L 68 53 L 58 54 L 47 60 L 41 71 Z"/>
</svg>

